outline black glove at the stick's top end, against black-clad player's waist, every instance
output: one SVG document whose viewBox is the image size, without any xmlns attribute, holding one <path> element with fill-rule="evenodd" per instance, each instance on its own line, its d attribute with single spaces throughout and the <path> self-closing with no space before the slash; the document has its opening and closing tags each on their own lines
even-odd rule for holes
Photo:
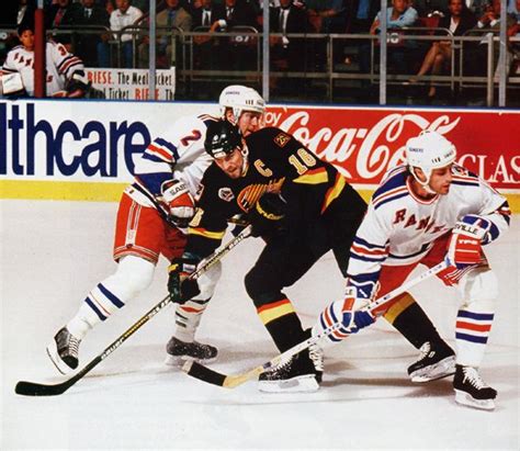
<svg viewBox="0 0 520 451">
<path fill-rule="evenodd" d="M 279 194 L 263 194 L 248 215 L 252 226 L 251 236 L 259 237 L 279 230 L 285 216 L 285 201 Z"/>
</svg>

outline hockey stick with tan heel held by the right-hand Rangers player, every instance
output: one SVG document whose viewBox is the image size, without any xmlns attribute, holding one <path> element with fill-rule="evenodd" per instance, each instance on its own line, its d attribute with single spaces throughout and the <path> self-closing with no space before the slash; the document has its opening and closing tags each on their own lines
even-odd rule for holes
<svg viewBox="0 0 520 451">
<path fill-rule="evenodd" d="M 376 311 L 377 308 L 381 308 L 382 306 L 385 306 L 386 304 L 389 304 L 391 301 L 393 301 L 399 294 L 405 293 L 406 291 L 417 285 L 418 283 L 425 281 L 426 279 L 429 279 L 432 275 L 438 274 L 440 271 L 444 270 L 449 266 L 450 266 L 450 262 L 448 260 L 442 261 L 436 267 L 430 268 L 429 270 L 422 272 L 417 278 L 411 279 L 410 281 L 404 283 L 397 289 L 391 291 L 389 293 L 374 301 L 373 303 L 371 303 L 370 307 L 366 307 L 366 309 L 370 312 L 373 312 L 373 311 Z M 383 311 L 381 313 L 377 313 L 377 316 L 381 316 L 382 314 L 383 314 Z M 268 371 L 274 367 L 278 367 L 282 362 L 289 361 L 293 356 L 296 356 L 298 352 L 302 352 L 303 350 L 307 349 L 309 346 L 317 343 L 321 338 L 328 336 L 329 334 L 331 334 L 332 331 L 335 331 L 341 326 L 342 325 L 340 323 L 337 323 L 328 327 L 327 329 L 323 330 L 318 335 L 307 338 L 305 341 L 302 341 L 301 343 L 294 346 L 293 348 L 287 349 L 285 352 L 282 352 L 281 354 L 271 359 L 269 362 L 255 367 L 253 369 L 248 370 L 244 373 L 230 374 L 230 375 L 222 374 L 222 373 L 218 373 L 217 371 L 211 370 L 210 368 L 204 367 L 194 361 L 185 362 L 184 365 L 182 367 L 182 371 L 186 373 L 188 375 L 191 375 L 195 379 L 207 382 L 210 384 L 223 386 L 226 388 L 235 388 L 236 386 L 241 385 L 245 382 L 259 376 L 264 371 Z"/>
</svg>

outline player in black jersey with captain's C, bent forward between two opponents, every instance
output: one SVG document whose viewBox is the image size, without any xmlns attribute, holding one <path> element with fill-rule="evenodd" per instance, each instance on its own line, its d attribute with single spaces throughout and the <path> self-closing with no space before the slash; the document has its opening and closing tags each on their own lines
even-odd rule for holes
<svg viewBox="0 0 520 451">
<path fill-rule="evenodd" d="M 294 284 L 329 250 L 346 277 L 350 246 L 366 204 L 332 165 L 279 128 L 262 128 L 242 138 L 236 126 L 215 122 L 207 128 L 205 149 L 214 161 L 201 181 L 185 251 L 169 269 L 170 294 L 181 303 L 197 294 L 197 282 L 186 280 L 188 274 L 221 245 L 227 219 L 246 215 L 253 236 L 265 240 L 246 275 L 246 290 L 283 352 L 309 336 L 284 287 Z M 438 336 L 422 311 L 414 322 Z M 404 335 L 410 339 L 416 329 L 408 328 Z M 303 351 L 263 373 L 260 390 L 317 390 L 320 358 L 319 349 Z"/>
</svg>

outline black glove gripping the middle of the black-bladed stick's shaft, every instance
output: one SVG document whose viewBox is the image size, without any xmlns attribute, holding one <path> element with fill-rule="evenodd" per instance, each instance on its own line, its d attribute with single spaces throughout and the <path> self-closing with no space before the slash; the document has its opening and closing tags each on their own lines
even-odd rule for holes
<svg viewBox="0 0 520 451">
<path fill-rule="evenodd" d="M 196 280 L 188 279 L 196 270 L 200 261 L 197 256 L 189 252 L 171 261 L 168 267 L 168 291 L 171 302 L 182 305 L 201 292 Z"/>
</svg>

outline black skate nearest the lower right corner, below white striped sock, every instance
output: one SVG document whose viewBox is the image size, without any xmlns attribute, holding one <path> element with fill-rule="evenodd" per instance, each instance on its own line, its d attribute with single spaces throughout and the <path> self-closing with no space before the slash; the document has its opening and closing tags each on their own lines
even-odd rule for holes
<svg viewBox="0 0 520 451">
<path fill-rule="evenodd" d="M 456 365 L 453 388 L 459 404 L 484 410 L 495 408 L 497 391 L 483 381 L 476 368 Z"/>
</svg>

